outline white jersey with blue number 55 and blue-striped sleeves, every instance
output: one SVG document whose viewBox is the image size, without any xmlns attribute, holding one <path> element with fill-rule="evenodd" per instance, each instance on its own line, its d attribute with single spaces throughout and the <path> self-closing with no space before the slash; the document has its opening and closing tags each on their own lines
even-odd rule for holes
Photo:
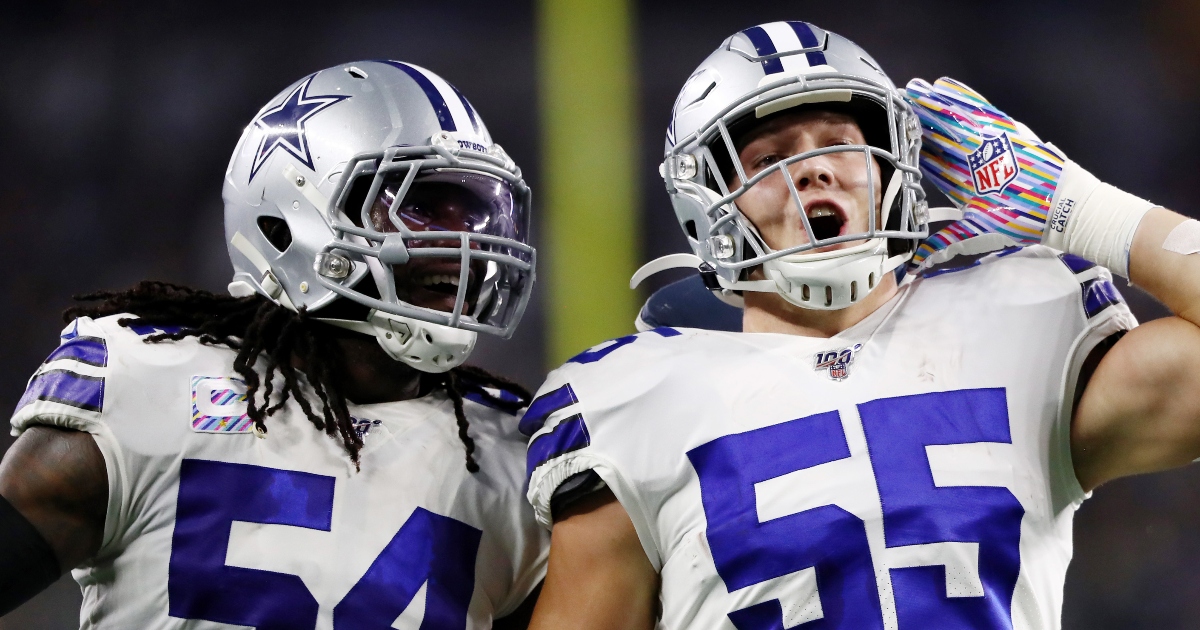
<svg viewBox="0 0 1200 630">
<path fill-rule="evenodd" d="M 660 328 L 554 371 L 528 497 L 594 470 L 661 574 L 661 628 L 1060 628 L 1081 364 L 1136 325 L 1043 247 L 905 284 L 832 337 Z"/>
</svg>

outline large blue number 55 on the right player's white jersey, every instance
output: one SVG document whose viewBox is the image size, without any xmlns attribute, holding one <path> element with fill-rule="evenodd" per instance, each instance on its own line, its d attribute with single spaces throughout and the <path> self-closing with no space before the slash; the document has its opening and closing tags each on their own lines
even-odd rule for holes
<svg viewBox="0 0 1200 630">
<path fill-rule="evenodd" d="M 859 404 L 858 412 L 887 548 L 906 547 L 898 550 L 904 553 L 959 545 L 974 560 L 954 566 L 955 574 L 973 574 L 966 582 L 974 584 L 954 593 L 947 564 L 892 568 L 900 629 L 1010 629 L 1025 510 L 1004 487 L 938 486 L 926 455 L 934 445 L 1010 444 L 1004 390 L 882 398 Z M 760 522 L 756 509 L 755 484 L 850 456 L 838 412 L 726 436 L 688 452 L 700 475 L 716 571 L 731 593 L 812 570 L 822 614 L 799 628 L 883 628 L 862 518 L 823 505 Z M 782 630 L 782 605 L 779 599 L 755 604 L 731 612 L 730 620 L 738 630 Z"/>
</svg>

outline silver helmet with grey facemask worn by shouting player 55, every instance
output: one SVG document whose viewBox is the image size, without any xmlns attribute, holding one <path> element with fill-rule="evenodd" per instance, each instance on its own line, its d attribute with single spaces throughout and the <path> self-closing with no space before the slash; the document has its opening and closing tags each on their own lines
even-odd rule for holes
<svg viewBox="0 0 1200 630">
<path fill-rule="evenodd" d="M 748 178 L 734 144 L 738 134 L 797 107 L 853 116 L 866 144 L 793 155 Z M 919 150 L 917 116 L 878 64 L 850 40 L 804 22 L 739 31 L 684 84 L 667 130 L 660 173 L 694 256 L 650 263 L 634 282 L 672 266 L 698 266 L 709 288 L 731 304 L 740 306 L 743 290 L 758 290 L 776 292 L 808 308 L 845 308 L 906 262 L 913 242 L 929 234 Z M 788 176 L 791 164 L 835 152 L 860 155 L 866 173 L 876 169 L 880 174 L 883 191 L 876 191 L 872 182 L 868 198 L 881 199 L 881 206 L 869 214 L 866 232 L 830 235 L 814 229 Z M 746 191 L 776 172 L 785 174 L 808 236 L 803 245 L 778 251 L 738 209 Z M 860 240 L 847 248 L 815 251 Z M 760 265 L 768 280 L 749 280 L 750 270 Z"/>
</svg>

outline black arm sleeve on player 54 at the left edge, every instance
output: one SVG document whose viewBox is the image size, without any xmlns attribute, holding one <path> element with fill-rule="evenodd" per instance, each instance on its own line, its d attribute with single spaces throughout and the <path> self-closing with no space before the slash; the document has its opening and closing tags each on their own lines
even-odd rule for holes
<svg viewBox="0 0 1200 630">
<path fill-rule="evenodd" d="M 0 617 L 53 584 L 60 574 L 50 545 L 0 496 Z"/>
</svg>

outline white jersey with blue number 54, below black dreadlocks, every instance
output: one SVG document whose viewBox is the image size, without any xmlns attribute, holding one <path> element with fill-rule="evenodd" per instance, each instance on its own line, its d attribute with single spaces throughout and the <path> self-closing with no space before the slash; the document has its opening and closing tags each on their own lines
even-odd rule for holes
<svg viewBox="0 0 1200 630">
<path fill-rule="evenodd" d="M 544 577 L 517 416 L 466 401 L 470 474 L 444 392 L 352 404 L 356 472 L 295 401 L 259 436 L 228 348 L 118 319 L 68 325 L 12 419 L 103 452 L 103 542 L 73 572 L 84 629 L 487 629 Z"/>
</svg>

